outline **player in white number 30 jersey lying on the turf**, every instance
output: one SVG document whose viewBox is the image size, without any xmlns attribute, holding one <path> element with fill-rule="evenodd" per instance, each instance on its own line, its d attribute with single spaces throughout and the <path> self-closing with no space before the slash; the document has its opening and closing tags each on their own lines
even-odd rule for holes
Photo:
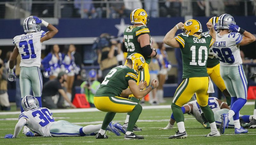
<svg viewBox="0 0 256 145">
<path fill-rule="evenodd" d="M 96 135 L 101 127 L 101 124 L 82 127 L 64 120 L 54 121 L 52 111 L 39 107 L 38 100 L 31 95 L 27 95 L 21 100 L 21 106 L 25 111 L 19 116 L 14 135 L 8 134 L 4 138 L 16 138 L 24 125 L 35 132 L 27 132 L 26 136 L 28 137 L 89 136 Z M 119 131 L 112 126 L 111 122 L 108 124 L 107 130 L 120 136 Z"/>
</svg>

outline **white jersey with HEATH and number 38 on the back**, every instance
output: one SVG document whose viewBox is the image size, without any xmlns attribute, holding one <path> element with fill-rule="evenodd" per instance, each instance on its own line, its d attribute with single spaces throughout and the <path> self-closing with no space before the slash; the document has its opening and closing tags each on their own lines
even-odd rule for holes
<svg viewBox="0 0 256 145">
<path fill-rule="evenodd" d="M 239 66 L 243 63 L 238 45 L 242 39 L 240 33 L 231 32 L 223 36 L 217 33 L 212 50 L 221 66 Z"/>
</svg>

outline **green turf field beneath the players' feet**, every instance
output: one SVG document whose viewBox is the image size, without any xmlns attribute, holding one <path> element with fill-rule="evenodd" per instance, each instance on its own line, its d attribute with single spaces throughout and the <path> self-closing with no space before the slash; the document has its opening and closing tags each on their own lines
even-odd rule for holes
<svg viewBox="0 0 256 145">
<path fill-rule="evenodd" d="M 168 99 L 166 104 L 171 104 Z M 240 114 L 253 114 L 254 105 L 246 105 L 242 108 Z M 53 111 L 54 112 L 54 111 Z M 19 114 L 0 115 L 0 144 L 1 145 L 48 145 L 48 144 L 118 144 L 118 145 L 160 145 L 160 144 L 255 144 L 256 129 L 249 129 L 247 134 L 235 135 L 233 128 L 228 128 L 225 134 L 220 137 L 204 137 L 210 132 L 210 129 L 204 129 L 203 126 L 192 116 L 185 115 L 185 127 L 188 133 L 186 139 L 168 139 L 170 135 L 174 135 L 177 131 L 177 125 L 172 130 L 159 130 L 167 125 L 171 109 L 144 109 L 140 115 L 137 125 L 142 128 L 141 132 L 135 132 L 143 135 L 144 140 L 124 140 L 124 136 L 115 136 L 113 133 L 107 133 L 108 139 L 95 139 L 95 136 L 85 137 L 26 137 L 22 133 L 15 139 L 4 139 L 5 134 L 13 134 Z M 77 125 L 86 126 L 89 124 L 100 124 L 105 116 L 104 112 L 80 112 L 80 113 L 53 113 L 55 121 L 66 120 Z M 8 118 L 8 121 L 3 120 Z M 13 118 L 10 119 L 10 118 Z M 123 124 L 126 114 L 116 114 L 113 122 Z"/>
</svg>

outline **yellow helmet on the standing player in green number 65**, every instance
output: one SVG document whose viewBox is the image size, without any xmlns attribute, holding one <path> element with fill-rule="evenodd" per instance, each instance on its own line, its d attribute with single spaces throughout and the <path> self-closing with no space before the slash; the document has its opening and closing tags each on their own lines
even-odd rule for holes
<svg viewBox="0 0 256 145">
<path fill-rule="evenodd" d="M 132 24 L 148 24 L 148 14 L 143 9 L 135 9 L 131 13 L 131 23 Z"/>
</svg>

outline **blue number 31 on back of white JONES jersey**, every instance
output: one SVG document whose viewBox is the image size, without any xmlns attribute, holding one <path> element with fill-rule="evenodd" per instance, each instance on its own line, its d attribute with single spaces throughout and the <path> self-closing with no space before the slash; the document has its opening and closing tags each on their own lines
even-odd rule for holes
<svg viewBox="0 0 256 145">
<path fill-rule="evenodd" d="M 30 45 L 31 55 L 30 55 L 29 50 L 28 50 L 28 44 Z M 36 58 L 34 45 L 33 45 L 33 40 L 32 39 L 28 40 L 28 42 L 27 41 L 20 41 L 19 46 L 23 47 L 23 45 L 24 45 L 23 51 L 26 53 L 26 55 L 21 54 L 22 59 L 29 59 L 30 56 L 31 56 L 31 59 Z"/>
</svg>

